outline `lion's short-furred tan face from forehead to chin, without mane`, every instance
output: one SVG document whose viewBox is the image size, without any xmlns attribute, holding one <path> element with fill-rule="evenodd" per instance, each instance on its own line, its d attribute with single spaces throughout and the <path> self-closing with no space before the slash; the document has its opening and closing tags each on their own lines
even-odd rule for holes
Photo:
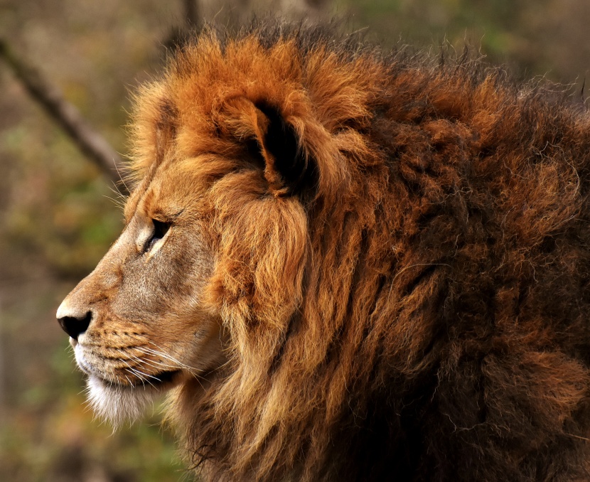
<svg viewBox="0 0 590 482">
<path fill-rule="evenodd" d="M 122 235 L 58 309 L 90 401 L 115 424 L 222 361 L 218 316 L 203 304 L 213 258 L 199 196 L 173 168 L 146 177 Z"/>
</svg>

